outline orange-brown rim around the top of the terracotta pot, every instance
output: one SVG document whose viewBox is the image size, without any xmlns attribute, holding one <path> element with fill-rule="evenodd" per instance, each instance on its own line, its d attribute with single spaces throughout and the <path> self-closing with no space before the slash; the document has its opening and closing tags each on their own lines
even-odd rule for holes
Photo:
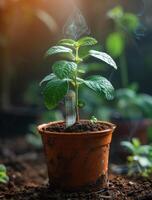
<svg viewBox="0 0 152 200">
<path fill-rule="evenodd" d="M 82 119 L 80 121 L 89 121 L 89 120 L 83 120 Z M 59 135 L 62 135 L 62 136 L 70 136 L 70 135 L 72 135 L 72 136 L 92 136 L 92 135 L 101 135 L 101 133 L 102 133 L 102 135 L 106 135 L 111 131 L 113 132 L 116 128 L 116 125 L 111 123 L 111 122 L 100 121 L 100 120 L 98 120 L 98 122 L 110 125 L 111 128 L 108 128 L 108 129 L 105 129 L 105 130 L 102 130 L 102 131 L 84 131 L 84 132 L 51 132 L 51 131 L 43 130 L 43 128 L 48 127 L 51 124 L 64 123 L 64 121 L 54 121 L 54 122 L 49 122 L 49 123 L 46 123 L 46 124 L 41 124 L 37 127 L 37 129 L 38 129 L 38 131 L 41 135 L 49 134 L 49 135 L 54 135 L 54 136 L 59 136 Z"/>
</svg>

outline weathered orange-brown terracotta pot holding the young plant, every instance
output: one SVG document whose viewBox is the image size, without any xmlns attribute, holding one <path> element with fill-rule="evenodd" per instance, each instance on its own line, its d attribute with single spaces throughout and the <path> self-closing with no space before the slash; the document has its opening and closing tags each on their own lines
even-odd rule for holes
<svg viewBox="0 0 152 200">
<path fill-rule="evenodd" d="M 45 131 L 51 122 L 38 126 L 42 136 L 50 186 L 61 190 L 81 190 L 107 186 L 109 145 L 115 125 L 96 132 L 61 133 Z"/>
</svg>

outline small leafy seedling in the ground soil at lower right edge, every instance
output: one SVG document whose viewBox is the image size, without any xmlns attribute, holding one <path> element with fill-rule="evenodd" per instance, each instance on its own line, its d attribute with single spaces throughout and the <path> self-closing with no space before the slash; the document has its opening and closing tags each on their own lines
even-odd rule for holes
<svg viewBox="0 0 152 200">
<path fill-rule="evenodd" d="M 130 152 L 127 157 L 129 175 L 133 175 L 135 172 L 144 177 L 152 175 L 151 145 L 141 145 L 137 138 L 133 138 L 131 142 L 123 141 L 121 145 Z"/>
</svg>

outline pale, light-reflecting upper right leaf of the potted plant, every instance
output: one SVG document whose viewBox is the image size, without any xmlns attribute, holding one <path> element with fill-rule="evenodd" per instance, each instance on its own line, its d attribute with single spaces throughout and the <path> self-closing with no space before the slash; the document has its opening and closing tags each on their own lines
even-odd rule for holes
<svg viewBox="0 0 152 200">
<path fill-rule="evenodd" d="M 99 60 L 106 62 L 107 64 L 109 64 L 112 67 L 114 67 L 115 69 L 117 69 L 117 65 L 116 65 L 115 61 L 107 53 L 99 52 L 96 50 L 90 50 L 89 54 L 95 58 L 98 58 Z"/>
</svg>

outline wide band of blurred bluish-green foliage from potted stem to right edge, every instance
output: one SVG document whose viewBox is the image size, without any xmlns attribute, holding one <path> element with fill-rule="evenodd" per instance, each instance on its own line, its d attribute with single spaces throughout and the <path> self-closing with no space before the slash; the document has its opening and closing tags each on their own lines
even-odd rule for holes
<svg viewBox="0 0 152 200">
<path fill-rule="evenodd" d="M 115 98 L 106 102 L 104 98 L 89 95 L 87 91 L 81 93 L 87 103 L 83 108 L 84 115 L 95 115 L 102 120 L 111 117 L 121 119 L 152 119 L 152 96 L 140 94 L 133 88 L 122 88 L 115 91 Z M 96 98 L 96 100 L 94 99 Z"/>
</svg>

